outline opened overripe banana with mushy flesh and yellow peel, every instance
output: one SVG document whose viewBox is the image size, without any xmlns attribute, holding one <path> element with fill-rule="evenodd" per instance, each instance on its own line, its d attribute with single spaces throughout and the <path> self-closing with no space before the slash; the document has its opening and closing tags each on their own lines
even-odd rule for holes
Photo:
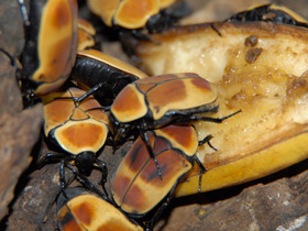
<svg viewBox="0 0 308 231">
<path fill-rule="evenodd" d="M 155 43 L 151 42 L 155 41 Z M 150 75 L 197 73 L 215 82 L 219 112 L 241 113 L 222 124 L 196 122 L 199 140 L 212 134 L 197 156 L 207 172 L 201 191 L 270 175 L 308 157 L 308 29 L 268 22 L 178 26 L 134 53 Z M 195 165 L 175 196 L 198 193 Z"/>
</svg>

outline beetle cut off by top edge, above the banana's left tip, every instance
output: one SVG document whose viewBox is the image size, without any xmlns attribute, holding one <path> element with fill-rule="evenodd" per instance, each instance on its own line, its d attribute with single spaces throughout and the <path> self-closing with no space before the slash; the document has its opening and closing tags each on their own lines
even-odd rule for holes
<svg viewBox="0 0 308 231">
<path fill-rule="evenodd" d="M 177 0 L 88 0 L 87 3 L 107 26 L 127 30 L 146 26 L 151 33 L 162 32 L 191 11 Z"/>
</svg>

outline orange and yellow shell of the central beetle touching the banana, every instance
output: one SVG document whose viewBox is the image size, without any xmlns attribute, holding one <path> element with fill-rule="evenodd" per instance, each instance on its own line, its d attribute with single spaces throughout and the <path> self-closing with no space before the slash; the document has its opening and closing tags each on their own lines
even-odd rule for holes
<svg viewBox="0 0 308 231">
<path fill-rule="evenodd" d="M 216 99 L 216 88 L 197 74 L 168 74 L 127 86 L 116 98 L 111 112 L 120 122 L 131 122 L 146 113 L 158 120 L 168 111 L 197 108 Z"/>
</svg>

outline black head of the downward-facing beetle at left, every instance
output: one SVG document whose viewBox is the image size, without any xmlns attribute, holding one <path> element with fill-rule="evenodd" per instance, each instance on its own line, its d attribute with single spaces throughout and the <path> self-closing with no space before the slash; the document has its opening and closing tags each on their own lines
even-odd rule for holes
<svg viewBox="0 0 308 231">
<path fill-rule="evenodd" d="M 81 152 L 75 158 L 75 164 L 79 173 L 86 176 L 91 174 L 95 162 L 96 155 L 94 152 Z"/>
</svg>

